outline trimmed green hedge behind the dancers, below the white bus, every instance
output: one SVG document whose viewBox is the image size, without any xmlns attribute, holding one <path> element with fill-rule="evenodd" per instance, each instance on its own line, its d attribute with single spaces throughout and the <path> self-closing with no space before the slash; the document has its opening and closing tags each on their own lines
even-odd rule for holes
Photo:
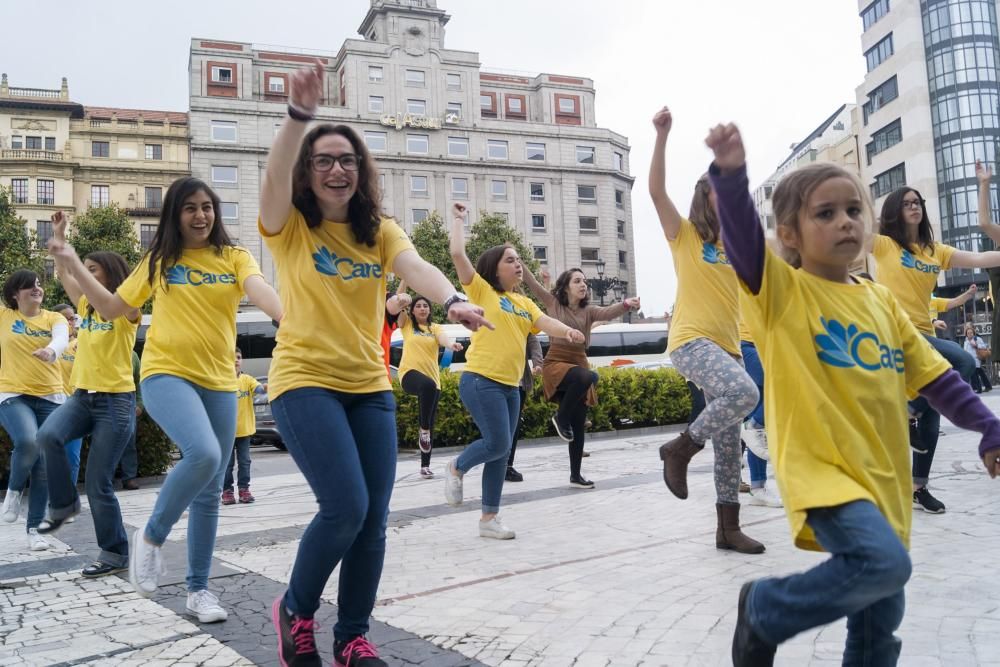
<svg viewBox="0 0 1000 667">
<path fill-rule="evenodd" d="M 600 368 L 597 384 L 598 404 L 589 412 L 591 431 L 678 424 L 691 411 L 691 397 L 684 378 L 671 368 L 657 370 Z M 479 437 L 479 430 L 458 397 L 458 373 L 441 374 L 441 401 L 434 425 L 437 446 L 465 445 Z M 398 405 L 396 427 L 401 447 L 417 446 L 417 398 L 393 384 Z M 524 438 L 555 436 L 551 418 L 555 404 L 545 400 L 542 381 L 524 406 Z"/>
</svg>

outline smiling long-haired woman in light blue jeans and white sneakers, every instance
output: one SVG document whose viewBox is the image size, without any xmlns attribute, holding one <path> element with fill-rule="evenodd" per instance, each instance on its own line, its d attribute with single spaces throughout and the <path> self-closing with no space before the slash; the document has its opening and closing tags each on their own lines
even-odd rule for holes
<svg viewBox="0 0 1000 667">
<path fill-rule="evenodd" d="M 129 549 L 129 579 L 151 597 L 163 571 L 161 546 L 188 511 L 187 613 L 202 623 L 225 620 L 208 591 L 222 476 L 236 430 L 236 309 L 244 295 L 280 320 L 281 304 L 257 261 L 233 245 L 217 217 L 218 195 L 197 178 L 167 189 L 149 251 L 112 293 L 61 240 L 50 252 L 65 261 L 87 301 L 106 322 L 153 300 L 142 353 L 143 406 L 184 458 L 167 475 L 145 526 Z M 124 373 L 124 366 L 122 367 Z M 116 461 L 117 462 L 117 461 Z"/>
</svg>

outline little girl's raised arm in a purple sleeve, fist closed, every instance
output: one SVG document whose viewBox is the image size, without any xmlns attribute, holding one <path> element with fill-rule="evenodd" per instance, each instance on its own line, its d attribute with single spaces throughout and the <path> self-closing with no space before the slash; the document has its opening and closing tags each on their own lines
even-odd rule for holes
<svg viewBox="0 0 1000 667">
<path fill-rule="evenodd" d="M 764 230 L 750 198 L 743 138 L 730 123 L 712 128 L 705 143 L 715 153 L 708 178 L 715 190 L 726 254 L 739 279 L 757 294 L 764 278 Z"/>
</svg>

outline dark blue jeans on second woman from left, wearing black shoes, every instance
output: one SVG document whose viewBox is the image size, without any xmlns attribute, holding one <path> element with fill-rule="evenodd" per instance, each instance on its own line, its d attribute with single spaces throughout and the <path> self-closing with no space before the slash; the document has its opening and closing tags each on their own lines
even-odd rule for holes
<svg viewBox="0 0 1000 667">
<path fill-rule="evenodd" d="M 115 497 L 115 466 L 135 430 L 135 392 L 90 393 L 78 389 L 38 429 L 38 446 L 45 456 L 49 479 L 49 514 L 63 519 L 79 506 L 75 474 L 80 468 L 68 455 L 67 441 L 90 434 L 87 454 L 87 500 L 102 563 L 128 563 L 128 535 Z"/>
</svg>

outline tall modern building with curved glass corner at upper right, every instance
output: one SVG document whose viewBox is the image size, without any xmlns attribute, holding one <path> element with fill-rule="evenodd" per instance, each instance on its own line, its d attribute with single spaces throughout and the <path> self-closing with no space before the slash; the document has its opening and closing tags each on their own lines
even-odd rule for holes
<svg viewBox="0 0 1000 667">
<path fill-rule="evenodd" d="M 862 171 L 876 211 L 908 185 L 926 200 L 935 236 L 980 250 L 975 161 L 997 166 L 1000 30 L 996 0 L 859 0 L 868 69 L 862 107 Z M 997 208 L 996 192 L 993 208 Z M 948 271 L 954 294 L 979 271 Z"/>
</svg>

